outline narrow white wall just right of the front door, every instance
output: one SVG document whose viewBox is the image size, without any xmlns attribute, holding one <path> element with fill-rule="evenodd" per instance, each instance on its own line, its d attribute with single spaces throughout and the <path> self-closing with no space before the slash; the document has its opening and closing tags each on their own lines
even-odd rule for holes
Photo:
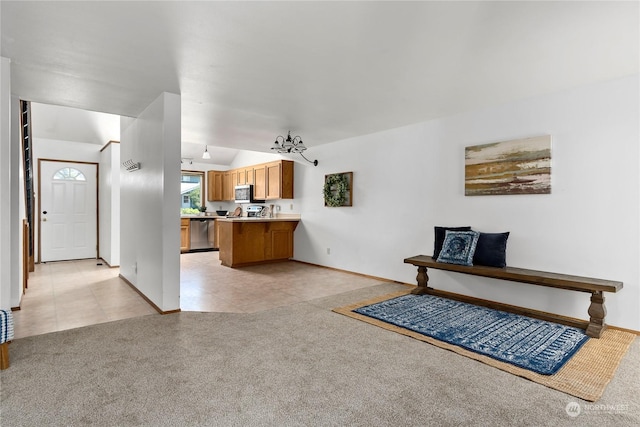
<svg viewBox="0 0 640 427">
<path fill-rule="evenodd" d="M 120 144 L 109 142 L 100 152 L 99 256 L 111 267 L 120 265 Z"/>
</svg>

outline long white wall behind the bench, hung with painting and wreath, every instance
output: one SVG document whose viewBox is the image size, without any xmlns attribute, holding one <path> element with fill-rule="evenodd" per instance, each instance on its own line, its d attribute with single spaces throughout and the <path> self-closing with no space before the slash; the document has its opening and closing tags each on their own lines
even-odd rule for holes
<svg viewBox="0 0 640 427">
<path fill-rule="evenodd" d="M 435 225 L 510 231 L 511 266 L 620 280 L 612 325 L 640 330 L 638 76 L 314 147 L 296 165 L 301 261 L 415 283 Z M 466 146 L 552 136 L 552 194 L 464 196 Z M 353 171 L 353 207 L 325 208 L 325 174 Z M 327 255 L 326 249 L 331 249 Z M 590 294 L 436 270 L 430 285 L 588 319 Z"/>
</svg>

